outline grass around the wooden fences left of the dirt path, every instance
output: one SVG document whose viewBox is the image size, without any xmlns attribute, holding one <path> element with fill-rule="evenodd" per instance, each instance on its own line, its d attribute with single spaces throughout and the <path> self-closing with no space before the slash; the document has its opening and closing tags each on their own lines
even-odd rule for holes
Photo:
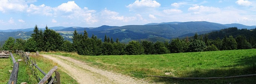
<svg viewBox="0 0 256 84">
<path fill-rule="evenodd" d="M 20 56 L 15 55 L 15 60 L 22 59 Z M 38 64 L 38 67 L 41 68 L 44 72 L 50 71 L 50 69 L 53 68 L 53 66 L 58 65 L 57 63 L 52 62 L 52 60 L 44 59 L 42 56 L 30 56 L 30 59 L 36 60 L 36 63 Z M 39 81 L 37 78 L 33 75 L 32 70 L 29 68 L 29 66 L 26 65 L 26 63 L 23 61 L 19 62 L 19 72 L 18 72 L 18 80 L 17 84 L 20 84 L 22 82 L 27 82 L 27 84 L 37 84 Z M 7 84 L 10 78 L 11 73 L 8 70 L 12 70 L 12 60 L 11 57 L 9 58 L 1 58 L 0 59 L 0 84 Z M 72 77 L 66 74 L 66 72 L 61 70 L 61 67 L 58 67 L 57 71 L 61 75 L 61 84 L 78 84 L 76 80 L 74 80 Z M 43 74 L 39 70 L 35 71 L 40 79 L 44 77 Z M 52 76 L 55 76 L 53 74 Z"/>
</svg>

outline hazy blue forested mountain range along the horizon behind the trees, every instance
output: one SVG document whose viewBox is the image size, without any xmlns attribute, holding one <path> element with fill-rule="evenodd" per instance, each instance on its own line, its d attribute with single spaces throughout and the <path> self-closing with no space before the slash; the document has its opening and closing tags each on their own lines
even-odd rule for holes
<svg viewBox="0 0 256 84">
<path fill-rule="evenodd" d="M 72 37 L 73 31 L 78 31 L 79 33 L 83 33 L 84 30 L 87 31 L 89 37 L 92 34 L 96 35 L 98 38 L 104 38 L 105 35 L 108 37 L 112 37 L 114 40 L 119 38 L 120 41 L 127 42 L 130 40 L 139 40 L 139 39 L 153 39 L 161 38 L 161 39 L 171 39 L 177 37 L 186 37 L 192 36 L 196 32 L 198 34 L 204 34 L 211 31 L 216 31 L 220 29 L 225 29 L 229 27 L 237 27 L 238 29 L 247 28 L 254 29 L 256 26 L 247 26 L 242 24 L 218 24 L 213 22 L 206 21 L 195 21 L 195 22 L 163 22 L 163 23 L 150 23 L 145 25 L 125 25 L 125 26 L 108 26 L 103 25 L 101 27 L 95 28 L 84 28 L 84 27 L 50 27 L 49 29 L 53 29 L 56 32 L 59 32 L 65 39 L 70 39 Z M 9 30 L 0 30 L 0 41 L 6 40 L 8 37 L 5 35 L 6 32 L 12 32 L 12 37 L 15 38 L 28 38 L 26 35 L 30 36 L 30 33 L 33 33 L 34 28 L 27 29 L 9 29 Z M 44 28 L 40 28 L 44 29 Z M 14 33 L 19 32 L 19 33 Z M 23 34 L 21 34 L 23 32 Z M 69 33 L 65 33 L 69 32 Z"/>
</svg>

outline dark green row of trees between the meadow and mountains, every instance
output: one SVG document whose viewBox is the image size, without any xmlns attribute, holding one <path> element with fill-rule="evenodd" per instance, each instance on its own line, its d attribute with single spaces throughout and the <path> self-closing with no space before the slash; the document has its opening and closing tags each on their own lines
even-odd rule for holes
<svg viewBox="0 0 256 84">
<path fill-rule="evenodd" d="M 97 38 L 96 35 L 88 37 L 87 31 L 83 34 L 78 34 L 78 31 L 73 32 L 72 42 L 64 40 L 64 38 L 52 29 L 45 27 L 44 31 L 39 30 L 37 25 L 34 27 L 34 33 L 27 40 L 9 39 L 3 44 L 3 50 L 25 50 L 29 52 L 36 51 L 63 51 L 76 52 L 79 55 L 156 55 L 166 53 L 183 53 L 183 52 L 203 52 L 216 50 L 236 50 L 236 49 L 252 49 L 256 48 L 248 42 L 245 35 L 237 35 L 235 38 L 232 35 L 213 38 L 216 32 L 234 31 L 235 28 L 222 29 L 209 34 L 186 37 L 183 39 L 175 38 L 170 42 L 155 43 L 147 40 L 130 41 L 129 43 L 120 43 L 119 39 L 105 35 L 104 40 Z M 255 31 L 252 29 L 250 31 Z M 218 33 L 219 34 L 219 33 Z M 220 36 L 220 35 L 219 35 Z M 254 35 L 255 36 L 255 35 Z M 252 37 L 251 37 L 252 38 Z M 255 38 L 255 37 L 254 37 Z M 250 40 L 251 41 L 251 40 Z M 255 41 L 255 40 L 254 40 Z M 253 41 L 251 41 L 253 42 Z"/>
</svg>

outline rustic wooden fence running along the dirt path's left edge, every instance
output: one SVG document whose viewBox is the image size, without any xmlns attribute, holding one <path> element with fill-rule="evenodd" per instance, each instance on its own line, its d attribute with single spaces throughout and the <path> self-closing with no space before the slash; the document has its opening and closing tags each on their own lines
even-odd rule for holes
<svg viewBox="0 0 256 84">
<path fill-rule="evenodd" d="M 60 84 L 60 75 L 59 72 L 57 72 L 56 70 L 58 69 L 57 66 L 54 66 L 47 74 L 40 69 L 37 64 L 36 61 L 31 60 L 29 58 L 29 54 L 23 52 L 22 50 L 18 51 L 16 50 L 16 54 L 21 56 L 23 58 L 23 60 L 26 62 L 26 65 L 28 65 L 30 67 L 30 69 L 32 70 L 33 74 L 38 78 L 38 80 L 40 81 L 38 84 L 44 84 L 48 81 L 47 84 Z M 30 65 L 31 64 L 31 65 Z M 35 67 L 34 67 L 35 66 Z M 44 77 L 42 79 L 40 79 L 40 77 L 38 77 L 37 73 L 35 73 L 35 68 L 37 68 L 43 75 Z M 55 77 L 52 77 L 52 74 L 55 72 Z"/>
</svg>

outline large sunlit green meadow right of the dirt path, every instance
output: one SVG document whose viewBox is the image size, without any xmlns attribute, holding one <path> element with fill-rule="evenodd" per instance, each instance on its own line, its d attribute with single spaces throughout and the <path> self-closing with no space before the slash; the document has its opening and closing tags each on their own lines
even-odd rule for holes
<svg viewBox="0 0 256 84">
<path fill-rule="evenodd" d="M 256 83 L 254 81 L 256 77 L 215 80 L 175 80 L 170 78 L 147 77 L 131 73 L 167 77 L 226 77 L 256 74 L 256 49 L 130 56 L 81 56 L 76 53 L 64 52 L 50 52 L 46 54 L 69 56 L 82 60 L 94 67 L 167 84 Z M 166 72 L 171 72 L 171 74 L 165 75 Z"/>
</svg>

